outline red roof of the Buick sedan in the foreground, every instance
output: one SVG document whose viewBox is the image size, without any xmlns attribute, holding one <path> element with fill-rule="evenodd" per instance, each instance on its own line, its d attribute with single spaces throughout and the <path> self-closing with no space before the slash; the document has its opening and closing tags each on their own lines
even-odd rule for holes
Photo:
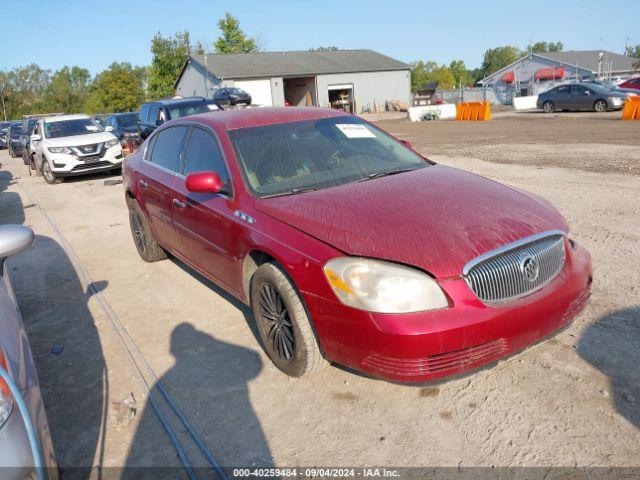
<svg viewBox="0 0 640 480">
<path fill-rule="evenodd" d="M 173 122 L 200 122 L 223 130 L 258 127 L 277 123 L 292 123 L 304 120 L 350 116 L 341 110 L 318 107 L 256 107 L 238 110 L 216 110 L 181 117 Z"/>
</svg>

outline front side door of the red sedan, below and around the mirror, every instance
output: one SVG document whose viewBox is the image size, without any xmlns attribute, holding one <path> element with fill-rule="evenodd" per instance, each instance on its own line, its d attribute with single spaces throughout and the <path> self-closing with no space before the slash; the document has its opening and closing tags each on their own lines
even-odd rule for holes
<svg viewBox="0 0 640 480">
<path fill-rule="evenodd" d="M 188 192 L 186 176 L 215 171 L 225 182 L 225 193 Z M 193 127 L 185 148 L 183 176 L 173 188 L 172 219 L 181 237 L 179 253 L 194 268 L 233 290 L 239 274 L 233 244 L 239 238 L 234 222 L 233 193 L 222 150 L 215 134 Z"/>
</svg>

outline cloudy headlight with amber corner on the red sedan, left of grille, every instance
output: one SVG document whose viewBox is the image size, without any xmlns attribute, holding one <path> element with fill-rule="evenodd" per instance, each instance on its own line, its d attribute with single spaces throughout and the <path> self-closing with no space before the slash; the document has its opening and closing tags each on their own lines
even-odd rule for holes
<svg viewBox="0 0 640 480">
<path fill-rule="evenodd" d="M 340 257 L 329 260 L 324 273 L 340 301 L 360 310 L 409 313 L 449 306 L 433 278 L 403 265 Z"/>
</svg>

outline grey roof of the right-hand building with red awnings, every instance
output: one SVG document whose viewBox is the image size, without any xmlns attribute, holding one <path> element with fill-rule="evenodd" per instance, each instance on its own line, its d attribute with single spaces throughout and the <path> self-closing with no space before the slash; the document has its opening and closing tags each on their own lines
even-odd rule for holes
<svg viewBox="0 0 640 480">
<path fill-rule="evenodd" d="M 640 64 L 639 58 L 628 57 L 626 55 L 620 55 L 619 53 L 613 53 L 607 50 L 567 50 L 566 52 L 527 53 L 512 64 L 493 72 L 491 75 L 487 75 L 485 78 L 480 80 L 479 83 L 485 84 L 488 79 L 501 75 L 516 63 L 523 61 L 529 56 L 545 58 L 571 67 L 575 67 L 577 65 L 581 70 L 589 70 L 595 74 L 598 73 L 598 57 L 600 52 L 603 54 L 603 62 L 613 62 L 611 67 L 612 73 L 632 72 L 636 70 Z M 602 68 L 606 69 L 608 67 L 603 63 Z"/>
</svg>

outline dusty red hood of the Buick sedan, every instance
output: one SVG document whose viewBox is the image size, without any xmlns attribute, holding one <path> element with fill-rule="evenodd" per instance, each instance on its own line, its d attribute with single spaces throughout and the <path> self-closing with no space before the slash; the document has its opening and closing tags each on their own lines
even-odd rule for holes
<svg viewBox="0 0 640 480">
<path fill-rule="evenodd" d="M 346 254 L 439 278 L 461 275 L 467 262 L 507 243 L 567 230 L 541 197 L 442 165 L 258 199 L 256 208 Z"/>
</svg>

